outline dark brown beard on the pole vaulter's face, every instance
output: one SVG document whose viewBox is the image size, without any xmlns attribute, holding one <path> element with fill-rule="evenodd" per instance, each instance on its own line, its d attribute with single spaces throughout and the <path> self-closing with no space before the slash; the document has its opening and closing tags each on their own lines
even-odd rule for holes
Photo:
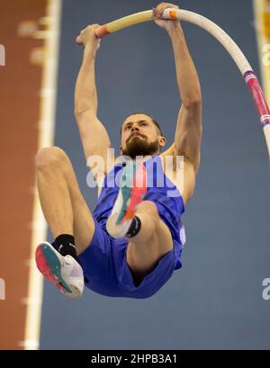
<svg viewBox="0 0 270 368">
<path fill-rule="evenodd" d="M 148 143 L 147 139 L 135 136 L 128 140 L 126 148 L 122 150 L 122 155 L 134 159 L 136 156 L 152 156 L 158 152 L 158 139 L 155 142 Z"/>
</svg>

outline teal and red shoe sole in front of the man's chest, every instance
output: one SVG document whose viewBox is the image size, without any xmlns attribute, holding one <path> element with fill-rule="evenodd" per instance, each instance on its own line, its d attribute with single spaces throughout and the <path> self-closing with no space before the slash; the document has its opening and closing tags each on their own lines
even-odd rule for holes
<svg viewBox="0 0 270 368">
<path fill-rule="evenodd" d="M 132 171 L 126 171 L 126 175 L 133 176 L 133 166 Z M 107 231 L 112 237 L 122 238 L 130 229 L 136 209 L 139 203 L 142 202 L 143 195 L 147 192 L 146 175 L 146 168 L 141 164 L 136 169 L 134 177 L 132 177 L 132 186 L 124 185 L 119 189 L 117 199 L 112 208 L 112 214 L 106 223 Z M 142 185 L 136 186 L 136 183 Z"/>
</svg>

